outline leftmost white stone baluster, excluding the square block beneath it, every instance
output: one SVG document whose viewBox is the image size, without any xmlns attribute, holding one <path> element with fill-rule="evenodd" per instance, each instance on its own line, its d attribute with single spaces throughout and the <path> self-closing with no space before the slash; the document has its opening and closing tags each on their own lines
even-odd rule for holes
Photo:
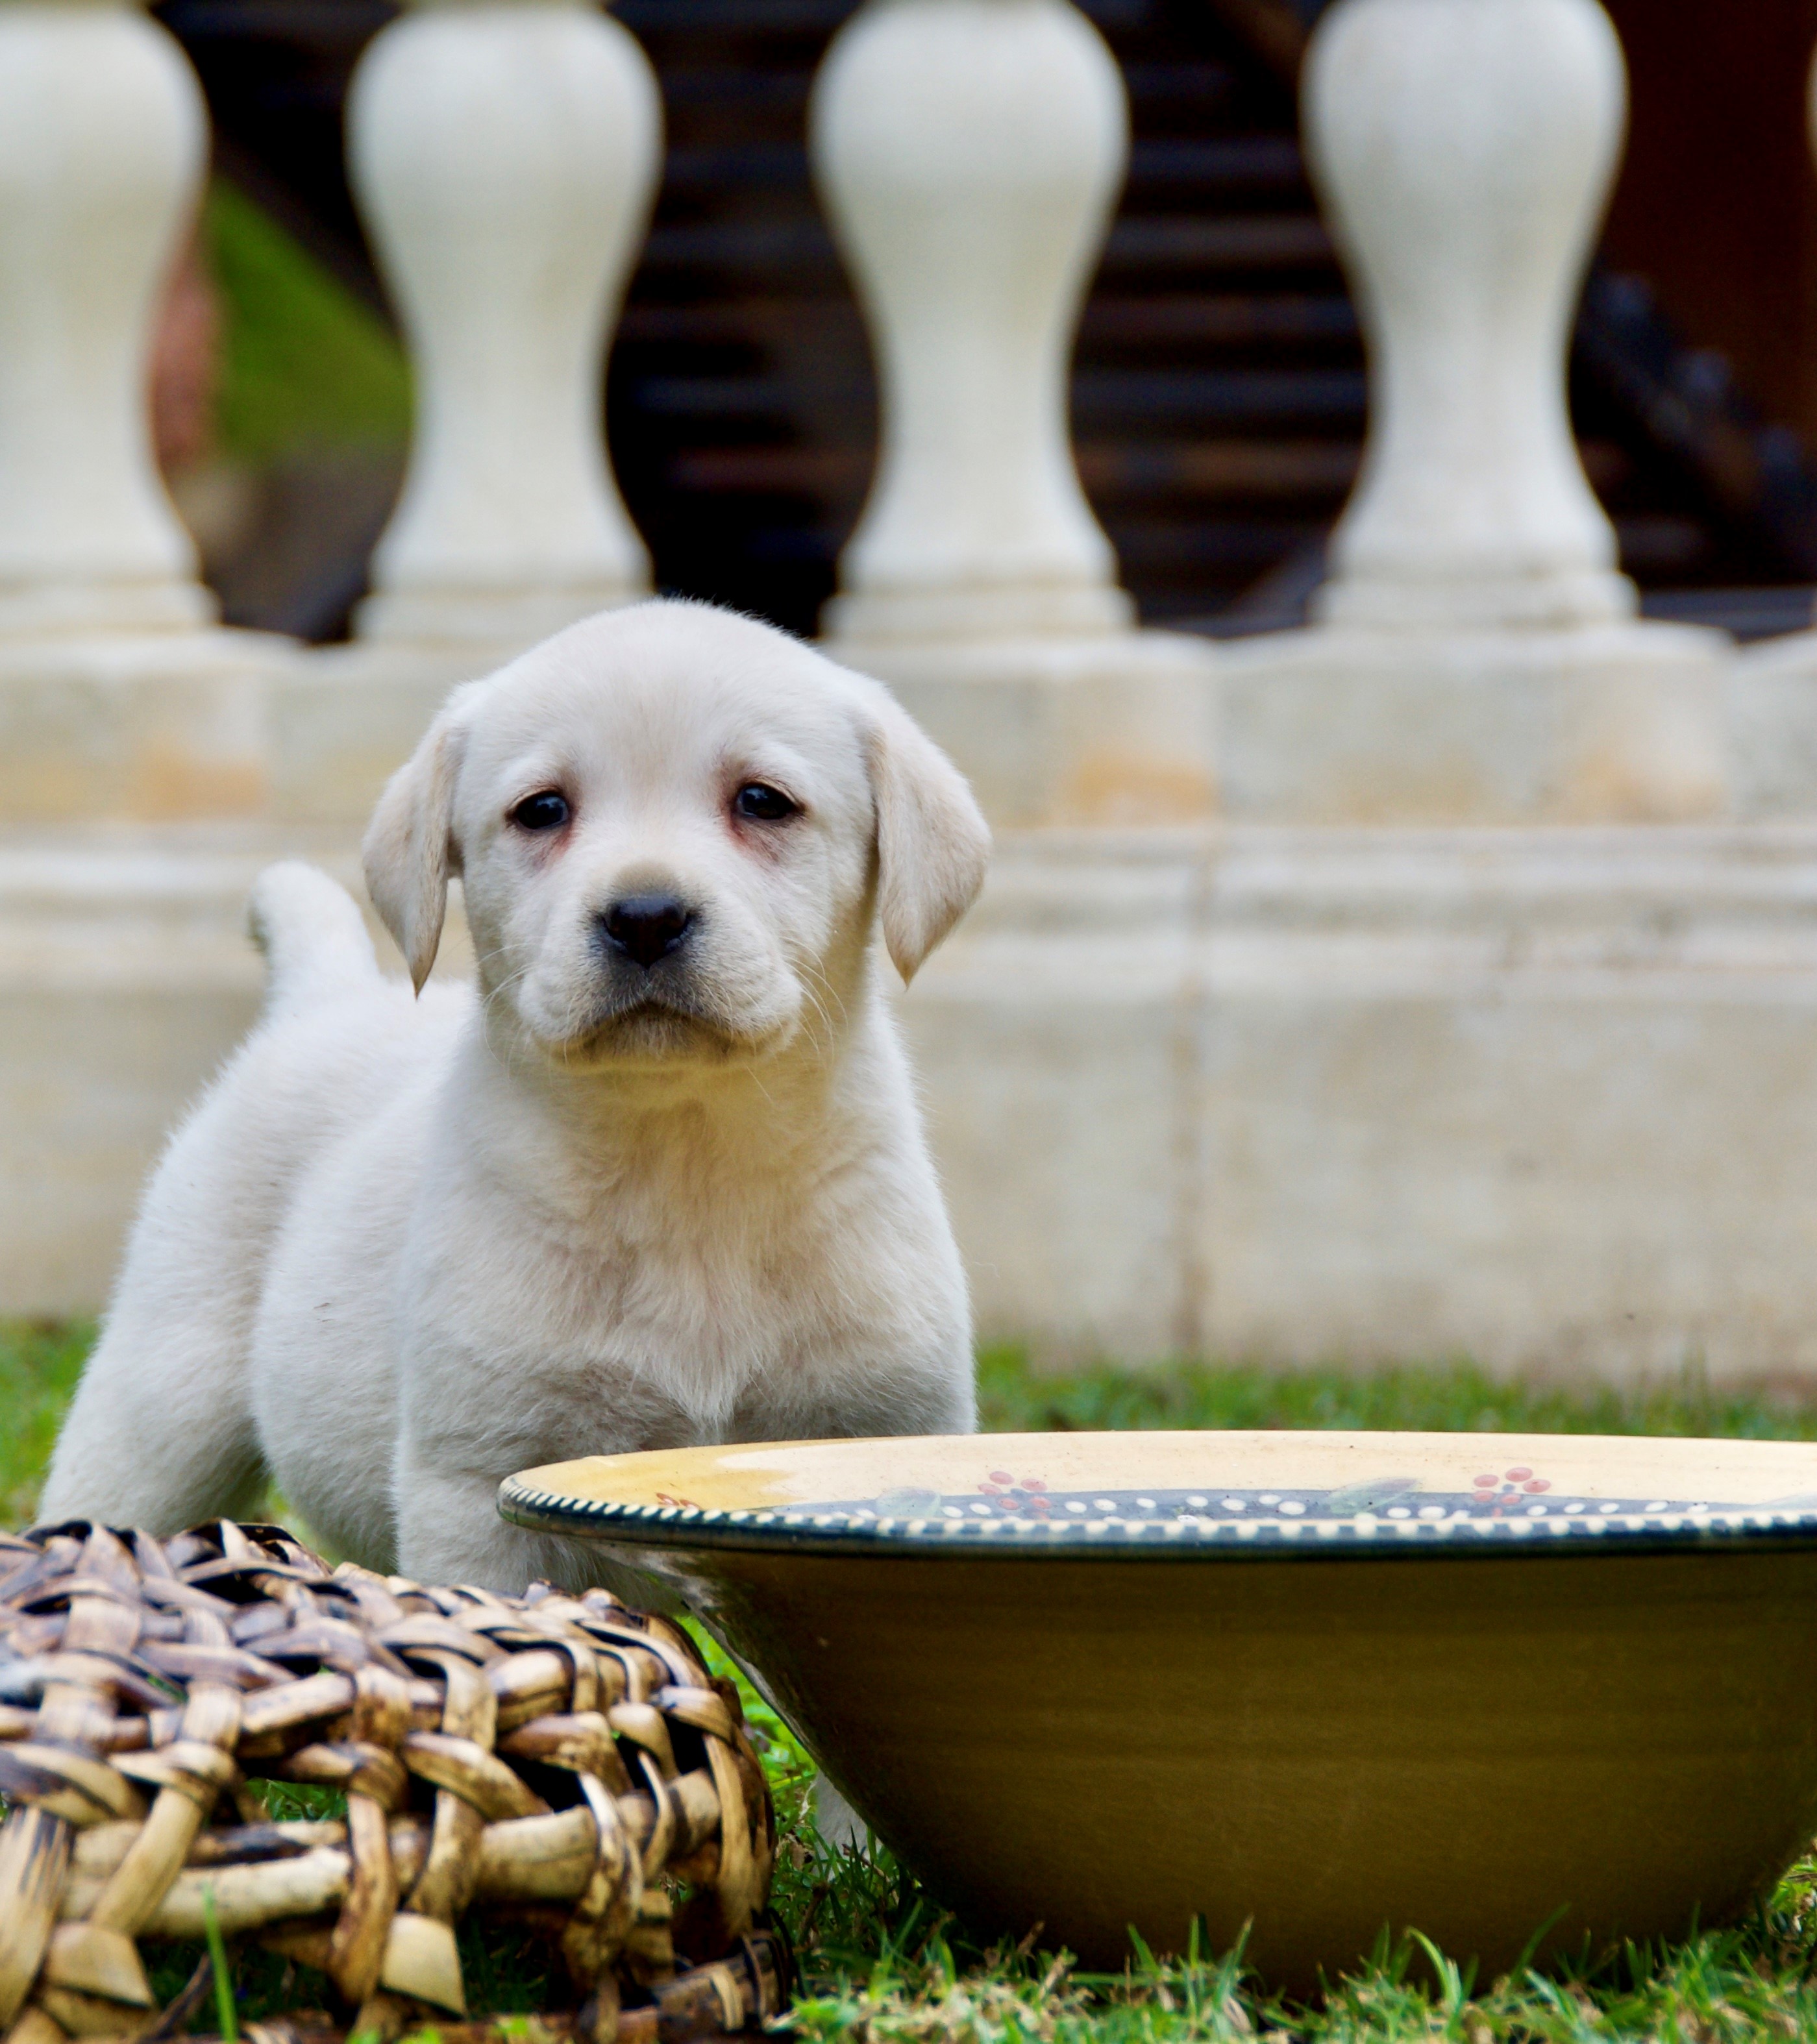
<svg viewBox="0 0 1817 2044">
<path fill-rule="evenodd" d="M 0 638 L 213 619 L 151 454 L 159 286 L 208 153 L 129 4 L 0 4 Z"/>
</svg>

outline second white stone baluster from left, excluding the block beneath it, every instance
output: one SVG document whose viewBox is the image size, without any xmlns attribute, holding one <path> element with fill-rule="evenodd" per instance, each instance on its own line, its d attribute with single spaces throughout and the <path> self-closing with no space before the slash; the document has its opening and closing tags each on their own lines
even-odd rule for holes
<svg viewBox="0 0 1817 2044">
<path fill-rule="evenodd" d="M 350 170 L 417 374 L 362 636 L 519 648 L 648 591 L 601 378 L 660 149 L 650 61 L 578 0 L 419 0 L 362 57 Z"/>
</svg>

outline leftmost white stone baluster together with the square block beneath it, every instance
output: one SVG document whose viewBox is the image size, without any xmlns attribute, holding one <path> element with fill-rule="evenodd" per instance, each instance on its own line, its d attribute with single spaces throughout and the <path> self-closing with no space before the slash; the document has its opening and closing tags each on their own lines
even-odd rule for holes
<svg viewBox="0 0 1817 2044">
<path fill-rule="evenodd" d="M 151 448 L 151 333 L 208 159 L 131 0 L 0 0 L 0 820 L 233 816 L 288 642 L 215 625 Z"/>
</svg>

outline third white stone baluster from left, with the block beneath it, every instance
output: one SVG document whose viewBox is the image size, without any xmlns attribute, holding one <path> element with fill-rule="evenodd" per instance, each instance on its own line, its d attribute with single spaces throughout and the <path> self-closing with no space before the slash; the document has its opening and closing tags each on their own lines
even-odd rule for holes
<svg viewBox="0 0 1817 2044">
<path fill-rule="evenodd" d="M 1069 0 L 869 0 L 809 117 L 881 386 L 830 650 L 895 687 L 999 824 L 1198 816 L 1210 652 L 1132 630 L 1073 464 L 1073 333 L 1128 159 Z"/>
</svg>

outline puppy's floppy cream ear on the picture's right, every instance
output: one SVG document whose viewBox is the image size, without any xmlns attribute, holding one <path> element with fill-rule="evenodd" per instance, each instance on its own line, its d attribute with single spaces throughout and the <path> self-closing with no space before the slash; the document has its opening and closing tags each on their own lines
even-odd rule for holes
<svg viewBox="0 0 1817 2044">
<path fill-rule="evenodd" d="M 977 899 L 991 832 L 959 769 L 885 689 L 871 699 L 877 914 L 903 983 Z"/>
</svg>

